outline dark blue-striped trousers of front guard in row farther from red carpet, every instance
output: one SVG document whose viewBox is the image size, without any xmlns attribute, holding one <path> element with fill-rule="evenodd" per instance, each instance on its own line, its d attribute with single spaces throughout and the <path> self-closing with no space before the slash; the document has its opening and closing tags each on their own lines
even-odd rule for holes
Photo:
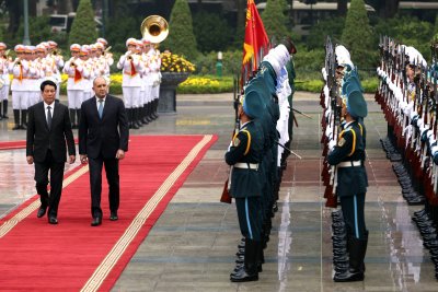
<svg viewBox="0 0 438 292">
<path fill-rule="evenodd" d="M 347 226 L 348 235 L 358 240 L 365 240 L 365 194 L 355 196 L 341 197 L 341 208 L 344 215 L 344 221 Z"/>
</svg>

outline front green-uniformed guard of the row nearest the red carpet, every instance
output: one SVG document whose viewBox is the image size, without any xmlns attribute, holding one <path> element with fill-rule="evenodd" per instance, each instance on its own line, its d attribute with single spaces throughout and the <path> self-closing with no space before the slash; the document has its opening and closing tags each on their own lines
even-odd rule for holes
<svg viewBox="0 0 438 292">
<path fill-rule="evenodd" d="M 265 110 L 258 92 L 245 90 L 239 105 L 240 129 L 226 153 L 231 165 L 230 195 L 235 199 L 240 231 L 245 238 L 244 264 L 230 275 L 232 282 L 258 280 L 258 255 L 262 248 L 262 186 L 258 167 L 263 154 L 263 131 L 256 121 Z"/>
</svg>

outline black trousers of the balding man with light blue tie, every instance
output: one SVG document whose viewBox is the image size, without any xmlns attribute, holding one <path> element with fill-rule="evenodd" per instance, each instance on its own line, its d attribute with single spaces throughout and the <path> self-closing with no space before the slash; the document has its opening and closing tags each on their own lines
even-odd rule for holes
<svg viewBox="0 0 438 292">
<path fill-rule="evenodd" d="M 108 200 L 110 210 L 117 212 L 119 198 L 120 198 L 120 185 L 118 176 L 118 160 L 117 159 L 104 159 L 100 155 L 96 159 L 89 157 L 90 166 L 90 187 L 91 187 L 91 215 L 93 218 L 102 218 L 101 209 L 101 195 L 102 195 L 102 166 L 105 165 L 106 180 L 110 187 Z"/>
</svg>

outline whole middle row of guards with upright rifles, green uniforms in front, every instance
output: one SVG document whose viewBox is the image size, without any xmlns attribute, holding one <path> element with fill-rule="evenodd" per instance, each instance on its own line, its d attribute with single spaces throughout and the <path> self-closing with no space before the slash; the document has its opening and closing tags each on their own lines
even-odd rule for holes
<svg viewBox="0 0 438 292">
<path fill-rule="evenodd" d="M 368 114 L 357 69 L 344 46 L 333 46 L 327 37 L 325 85 L 321 92 L 323 171 L 326 207 L 332 212 L 333 266 L 335 282 L 362 281 L 368 245 L 365 199 L 368 177 L 366 128 Z M 341 210 L 336 209 L 341 205 Z"/>
</svg>

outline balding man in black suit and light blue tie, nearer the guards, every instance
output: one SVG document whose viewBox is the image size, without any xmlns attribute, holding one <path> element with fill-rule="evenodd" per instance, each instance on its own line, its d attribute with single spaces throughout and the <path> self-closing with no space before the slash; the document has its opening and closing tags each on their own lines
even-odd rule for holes
<svg viewBox="0 0 438 292">
<path fill-rule="evenodd" d="M 95 96 L 82 103 L 79 122 L 79 154 L 81 163 L 90 164 L 92 226 L 102 224 L 102 166 L 105 165 L 110 186 L 110 220 L 118 219 L 118 161 L 128 151 L 129 128 L 122 100 L 107 94 L 103 77 L 93 81 Z"/>
</svg>

